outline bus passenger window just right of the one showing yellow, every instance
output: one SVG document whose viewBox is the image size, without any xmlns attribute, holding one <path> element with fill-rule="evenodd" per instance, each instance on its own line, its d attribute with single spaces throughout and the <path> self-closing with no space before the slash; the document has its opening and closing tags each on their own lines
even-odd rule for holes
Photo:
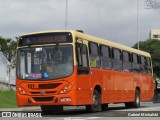
<svg viewBox="0 0 160 120">
<path fill-rule="evenodd" d="M 111 49 L 108 46 L 100 47 L 101 66 L 103 69 L 112 69 Z"/>
</svg>

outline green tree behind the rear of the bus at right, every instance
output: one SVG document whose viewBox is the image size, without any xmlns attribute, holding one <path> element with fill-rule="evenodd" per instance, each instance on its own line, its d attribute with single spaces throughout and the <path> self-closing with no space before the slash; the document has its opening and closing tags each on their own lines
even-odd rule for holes
<svg viewBox="0 0 160 120">
<path fill-rule="evenodd" d="M 137 43 L 133 46 L 133 48 L 137 48 Z M 149 39 L 146 41 L 140 41 L 139 49 L 151 54 L 153 70 L 160 76 L 160 40 Z"/>
</svg>

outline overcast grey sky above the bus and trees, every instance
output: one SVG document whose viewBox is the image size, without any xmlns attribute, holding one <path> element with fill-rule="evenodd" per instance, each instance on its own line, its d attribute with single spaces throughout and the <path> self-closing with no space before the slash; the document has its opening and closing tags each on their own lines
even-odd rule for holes
<svg viewBox="0 0 160 120">
<path fill-rule="evenodd" d="M 67 29 L 126 46 L 149 38 L 160 29 L 159 0 L 68 0 Z M 147 4 L 146 4 L 147 3 Z M 146 6 L 148 5 L 148 6 Z M 0 36 L 14 39 L 21 34 L 65 29 L 66 0 L 0 0 Z"/>
</svg>

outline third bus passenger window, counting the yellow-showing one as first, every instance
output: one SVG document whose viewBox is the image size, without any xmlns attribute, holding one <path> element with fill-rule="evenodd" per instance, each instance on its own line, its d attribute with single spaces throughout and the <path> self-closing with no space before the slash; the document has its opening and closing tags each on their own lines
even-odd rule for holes
<svg viewBox="0 0 160 120">
<path fill-rule="evenodd" d="M 122 71 L 122 60 L 121 60 L 121 51 L 119 49 L 113 48 L 113 69 Z"/>
</svg>

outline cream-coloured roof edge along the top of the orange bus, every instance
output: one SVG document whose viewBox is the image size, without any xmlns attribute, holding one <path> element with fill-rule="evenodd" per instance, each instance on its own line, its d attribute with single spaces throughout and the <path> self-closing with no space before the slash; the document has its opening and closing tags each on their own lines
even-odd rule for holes
<svg viewBox="0 0 160 120">
<path fill-rule="evenodd" d="M 124 51 L 129 51 L 129 52 L 132 52 L 132 53 L 136 53 L 136 54 L 139 54 L 139 55 L 150 57 L 150 54 L 147 53 L 147 52 L 137 50 L 137 49 L 134 49 L 134 48 L 131 48 L 131 47 L 127 47 L 125 45 L 118 44 L 118 43 L 112 42 L 110 40 L 106 40 L 106 39 L 94 37 L 94 36 L 91 36 L 91 35 L 88 35 L 88 34 L 85 34 L 85 33 L 81 33 L 81 32 L 78 32 L 76 30 L 50 30 L 50 31 L 27 33 L 27 34 L 23 34 L 21 36 L 41 34 L 41 33 L 52 33 L 52 32 L 71 32 L 74 35 L 74 37 L 78 37 L 78 38 L 81 38 L 81 39 L 84 39 L 84 40 L 87 40 L 87 41 L 96 42 L 96 43 L 99 43 L 99 44 L 102 44 L 102 45 L 107 45 L 107 46 L 110 46 L 110 47 L 113 47 L 113 48 L 118 48 L 118 49 L 121 49 L 121 50 L 124 50 Z"/>
</svg>

